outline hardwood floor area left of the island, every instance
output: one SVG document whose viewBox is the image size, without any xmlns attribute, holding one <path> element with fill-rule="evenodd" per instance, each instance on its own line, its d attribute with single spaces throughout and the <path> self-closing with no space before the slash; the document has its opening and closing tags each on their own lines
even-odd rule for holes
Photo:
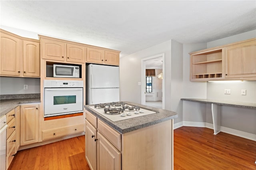
<svg viewBox="0 0 256 170">
<path fill-rule="evenodd" d="M 20 150 L 8 170 L 90 170 L 85 159 L 85 138 L 78 136 Z"/>
</svg>

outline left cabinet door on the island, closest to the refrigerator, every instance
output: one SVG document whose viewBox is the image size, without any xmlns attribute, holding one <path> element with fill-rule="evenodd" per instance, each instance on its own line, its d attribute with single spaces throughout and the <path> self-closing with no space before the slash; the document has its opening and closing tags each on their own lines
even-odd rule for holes
<svg viewBox="0 0 256 170">
<path fill-rule="evenodd" d="M 85 121 L 85 158 L 91 170 L 97 168 L 97 150 L 96 150 L 96 128 L 87 120 Z"/>
</svg>

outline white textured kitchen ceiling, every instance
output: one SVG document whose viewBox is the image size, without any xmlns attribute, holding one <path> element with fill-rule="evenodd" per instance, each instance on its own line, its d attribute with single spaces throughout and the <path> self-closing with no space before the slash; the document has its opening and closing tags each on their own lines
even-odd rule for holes
<svg viewBox="0 0 256 170">
<path fill-rule="evenodd" d="M 256 29 L 256 1 L 0 1 L 0 25 L 116 49 L 202 43 Z"/>
</svg>

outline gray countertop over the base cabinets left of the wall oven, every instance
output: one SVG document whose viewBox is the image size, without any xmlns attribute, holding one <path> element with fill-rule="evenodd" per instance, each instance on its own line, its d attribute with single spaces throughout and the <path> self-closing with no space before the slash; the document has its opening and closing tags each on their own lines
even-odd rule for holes
<svg viewBox="0 0 256 170">
<path fill-rule="evenodd" d="M 0 116 L 5 115 L 15 107 L 24 103 L 40 103 L 40 98 L 0 100 Z"/>
</svg>

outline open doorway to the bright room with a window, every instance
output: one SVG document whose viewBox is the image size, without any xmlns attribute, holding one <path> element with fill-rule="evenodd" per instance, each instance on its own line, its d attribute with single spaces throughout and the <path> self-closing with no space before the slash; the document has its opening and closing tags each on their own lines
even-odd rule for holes
<svg viewBox="0 0 256 170">
<path fill-rule="evenodd" d="M 146 92 L 146 69 L 155 69 L 152 77 L 153 91 Z M 159 76 L 158 76 L 159 75 Z M 162 77 L 160 77 L 162 75 Z M 159 77 L 159 78 L 158 78 Z M 164 53 L 146 57 L 141 60 L 141 104 L 164 109 Z"/>
</svg>

